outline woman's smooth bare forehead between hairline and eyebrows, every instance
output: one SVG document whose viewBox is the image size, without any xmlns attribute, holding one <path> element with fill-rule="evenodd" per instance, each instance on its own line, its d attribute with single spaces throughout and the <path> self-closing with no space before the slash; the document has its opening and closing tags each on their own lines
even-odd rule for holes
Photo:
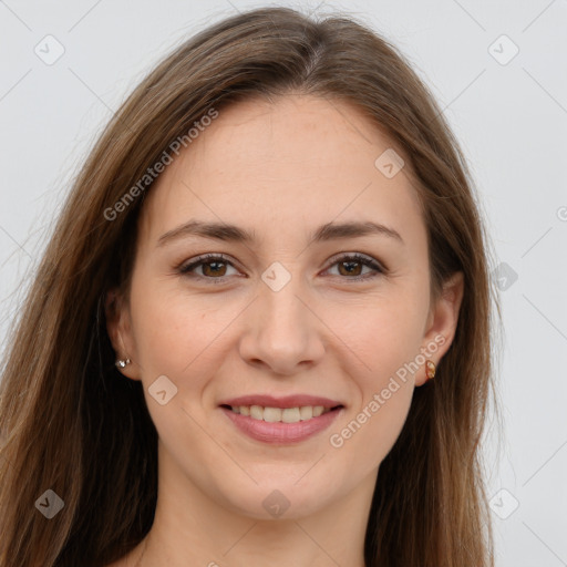
<svg viewBox="0 0 567 567">
<path fill-rule="evenodd" d="M 337 217 L 420 224 L 406 156 L 393 177 L 377 166 L 392 150 L 403 156 L 342 101 L 243 101 L 220 110 L 162 173 L 144 205 L 144 231 L 156 239 L 188 218 L 230 221 L 266 238 L 307 234 Z"/>
</svg>

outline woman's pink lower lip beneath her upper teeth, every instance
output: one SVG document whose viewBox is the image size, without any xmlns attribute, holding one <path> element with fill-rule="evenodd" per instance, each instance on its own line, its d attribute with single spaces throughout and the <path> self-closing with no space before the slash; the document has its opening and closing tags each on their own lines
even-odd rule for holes
<svg viewBox="0 0 567 567">
<path fill-rule="evenodd" d="M 331 410 L 330 412 L 323 413 L 318 417 L 311 417 L 310 420 L 299 421 L 297 423 L 284 423 L 284 422 L 267 422 L 262 420 L 255 420 L 240 413 L 235 413 L 233 410 L 227 408 L 220 408 L 228 419 L 249 437 L 264 443 L 274 445 L 284 445 L 289 443 L 299 443 L 305 441 L 317 433 L 326 430 L 338 416 L 344 408 L 338 410 Z"/>
</svg>

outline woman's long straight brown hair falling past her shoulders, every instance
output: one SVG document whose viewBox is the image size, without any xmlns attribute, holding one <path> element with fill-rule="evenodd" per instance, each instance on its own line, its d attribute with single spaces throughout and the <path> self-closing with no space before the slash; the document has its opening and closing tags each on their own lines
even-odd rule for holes
<svg viewBox="0 0 567 567">
<path fill-rule="evenodd" d="M 161 62 L 78 175 L 2 369 L 0 567 L 100 567 L 150 530 L 157 433 L 142 382 L 114 367 L 103 300 L 113 287 L 127 291 L 148 169 L 175 141 L 188 145 L 187 132 L 212 109 L 287 93 L 349 102 L 403 148 L 423 205 L 432 289 L 464 274 L 454 342 L 435 379 L 415 389 L 380 465 L 365 563 L 493 566 L 480 441 L 494 393 L 497 302 L 465 159 L 432 95 L 388 41 L 340 13 L 264 8 L 209 27 Z M 48 489 L 64 503 L 51 519 L 37 505 Z"/>
</svg>

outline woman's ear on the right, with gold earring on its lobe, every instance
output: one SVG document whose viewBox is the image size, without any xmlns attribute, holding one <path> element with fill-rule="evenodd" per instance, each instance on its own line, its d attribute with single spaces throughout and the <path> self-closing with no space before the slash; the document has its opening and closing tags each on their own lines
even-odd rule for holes
<svg viewBox="0 0 567 567">
<path fill-rule="evenodd" d="M 457 271 L 443 284 L 439 298 L 431 306 L 421 352 L 435 364 L 440 363 L 455 337 L 463 292 L 463 272 Z M 426 381 L 424 364 L 416 374 L 415 385 L 422 385 Z"/>
</svg>

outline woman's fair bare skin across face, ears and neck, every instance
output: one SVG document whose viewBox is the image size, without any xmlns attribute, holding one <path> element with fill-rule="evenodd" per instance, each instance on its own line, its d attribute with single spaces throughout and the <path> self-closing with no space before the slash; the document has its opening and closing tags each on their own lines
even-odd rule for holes
<svg viewBox="0 0 567 567">
<path fill-rule="evenodd" d="M 116 355 L 132 360 L 123 374 L 143 382 L 159 435 L 158 501 L 148 536 L 114 567 L 134 566 L 143 551 L 142 567 L 364 565 L 379 466 L 413 389 L 426 381 L 424 365 L 341 447 L 329 436 L 435 337 L 444 340 L 431 355 L 439 363 L 463 295 L 457 274 L 430 299 L 410 161 L 403 156 L 393 178 L 374 166 L 390 147 L 403 156 L 343 102 L 249 100 L 223 110 L 148 193 L 130 297 L 109 293 L 107 324 Z M 186 236 L 157 245 L 188 219 L 254 229 L 257 240 Z M 403 243 L 368 235 L 309 244 L 320 225 L 347 220 L 381 223 Z M 193 279 L 176 271 L 207 252 L 231 266 L 197 266 Z M 370 256 L 388 271 L 354 264 L 352 276 L 333 259 L 339 252 Z M 291 276 L 279 291 L 261 279 L 274 261 Z M 367 274 L 375 275 L 352 280 Z M 147 390 L 163 374 L 178 389 L 165 405 Z M 218 408 L 250 393 L 323 395 L 346 408 L 307 441 L 268 445 L 241 434 Z M 275 489 L 290 503 L 280 517 L 262 506 Z"/>
</svg>

